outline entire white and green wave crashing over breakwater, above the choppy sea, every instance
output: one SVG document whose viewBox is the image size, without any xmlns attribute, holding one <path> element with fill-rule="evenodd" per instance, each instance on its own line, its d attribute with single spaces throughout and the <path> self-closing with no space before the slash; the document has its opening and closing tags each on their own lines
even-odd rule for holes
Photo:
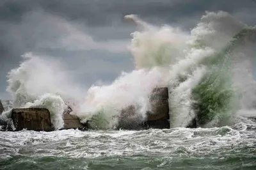
<svg viewBox="0 0 256 170">
<path fill-rule="evenodd" d="M 118 115 L 130 105 L 136 116 L 128 113 L 124 119 L 145 120 L 152 89 L 167 86 L 171 127 L 187 127 L 193 119 L 200 127 L 228 125 L 233 116 L 254 111 L 253 27 L 226 12 L 205 13 L 190 33 L 167 25 L 152 26 L 136 15 L 125 19 L 140 28 L 131 40 L 136 70 L 84 92 L 74 88 L 76 83 L 67 82 L 60 66 L 25 54 L 19 68 L 8 74 L 13 107 L 47 108 L 59 129 L 62 113 L 72 103 L 74 114 L 83 122 L 90 120 L 93 128 L 116 128 Z"/>
</svg>

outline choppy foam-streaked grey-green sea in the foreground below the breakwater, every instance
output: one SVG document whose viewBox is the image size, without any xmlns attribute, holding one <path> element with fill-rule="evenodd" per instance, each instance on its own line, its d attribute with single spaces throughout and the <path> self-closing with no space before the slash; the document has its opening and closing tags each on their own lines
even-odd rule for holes
<svg viewBox="0 0 256 170">
<path fill-rule="evenodd" d="M 0 132 L 0 169 L 256 169 L 256 125 Z"/>
</svg>

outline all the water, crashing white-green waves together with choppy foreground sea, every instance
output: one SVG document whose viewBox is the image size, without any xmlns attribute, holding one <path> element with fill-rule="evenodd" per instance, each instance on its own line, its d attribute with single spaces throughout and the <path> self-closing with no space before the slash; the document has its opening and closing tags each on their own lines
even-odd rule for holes
<svg viewBox="0 0 256 170">
<path fill-rule="evenodd" d="M 190 33 L 125 19 L 138 26 L 136 69 L 111 84 L 81 88 L 59 61 L 33 53 L 8 73 L 13 107 L 49 109 L 58 130 L 69 105 L 94 130 L 0 132 L 1 169 L 255 169 L 255 27 L 225 12 L 206 13 Z M 171 129 L 116 129 L 131 105 L 135 116 L 122 119 L 147 119 L 156 87 L 170 91 Z M 193 120 L 200 128 L 185 128 Z"/>
</svg>

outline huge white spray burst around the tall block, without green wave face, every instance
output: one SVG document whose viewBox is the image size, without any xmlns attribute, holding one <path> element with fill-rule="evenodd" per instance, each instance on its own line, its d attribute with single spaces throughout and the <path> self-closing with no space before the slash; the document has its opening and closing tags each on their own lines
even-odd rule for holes
<svg viewBox="0 0 256 170">
<path fill-rule="evenodd" d="M 147 105 L 148 95 L 150 95 L 153 88 L 168 86 L 171 93 L 170 114 L 172 127 L 186 127 L 189 121 L 195 118 L 195 103 L 200 103 L 200 98 L 196 95 L 196 89 L 203 84 L 204 77 L 214 72 L 213 68 L 217 67 L 218 69 L 218 65 L 212 67 L 214 60 L 218 61 L 220 56 L 217 54 L 227 45 L 232 36 L 236 35 L 240 29 L 243 29 L 244 24 L 237 22 L 234 17 L 225 12 L 207 13 L 202 17 L 202 22 L 189 35 L 171 26 L 152 26 L 140 20 L 136 15 L 127 15 L 125 18 L 132 20 L 140 27 L 140 31 L 132 33 L 131 42 L 131 52 L 134 56 L 137 70 L 121 75 L 117 81 L 109 86 L 93 87 L 94 91 L 89 90 L 90 96 L 93 96 L 93 98 L 86 99 L 81 115 L 83 114 L 89 120 L 101 122 L 99 123 L 100 125 L 115 127 L 114 125 L 117 122 L 115 116 L 120 114 L 122 109 L 129 107 L 129 105 L 139 105 L 144 108 L 143 106 Z M 232 24 L 231 28 L 225 25 L 227 20 Z M 219 31 L 221 33 L 218 33 Z M 214 40 L 212 40 L 212 37 L 214 37 Z M 221 38 L 224 38 L 225 42 Z M 219 40 L 223 43 L 218 42 Z M 155 68 L 159 70 L 158 81 L 155 81 L 156 77 L 152 77 L 147 79 L 145 83 L 141 83 L 141 80 L 143 80 L 143 77 L 140 77 L 141 70 L 147 73 L 156 71 Z M 222 71 L 225 72 L 225 70 Z M 219 73 L 219 76 L 221 76 L 221 72 Z M 127 84 L 127 77 L 133 76 L 138 76 L 141 80 L 132 81 L 131 79 Z M 228 79 L 222 80 L 229 81 Z M 119 88 L 118 86 L 120 85 L 118 84 L 127 84 L 127 87 L 129 87 L 127 89 L 129 90 L 126 89 L 126 92 L 129 92 L 129 94 L 124 93 L 124 89 Z M 150 84 L 150 88 L 145 84 Z M 142 95 L 136 89 L 147 90 Z M 218 90 L 221 91 L 223 89 Z M 216 89 L 216 91 L 218 90 Z M 116 95 L 116 91 L 118 91 L 118 95 Z M 207 89 L 204 92 L 207 93 Z M 130 99 L 131 94 L 134 97 Z M 137 96 L 144 98 L 143 102 L 138 102 Z M 228 103 L 231 98 L 227 97 L 225 101 Z M 122 104 L 115 102 L 115 100 Z M 145 111 L 140 114 L 145 114 Z M 214 118 L 207 121 L 211 120 L 214 120 Z M 103 121 L 105 123 L 102 123 Z"/>
</svg>

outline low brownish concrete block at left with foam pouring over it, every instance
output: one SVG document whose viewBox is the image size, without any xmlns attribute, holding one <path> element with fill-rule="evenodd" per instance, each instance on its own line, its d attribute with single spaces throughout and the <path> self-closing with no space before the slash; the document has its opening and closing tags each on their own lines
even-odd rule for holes
<svg viewBox="0 0 256 170">
<path fill-rule="evenodd" d="M 48 109 L 13 109 L 13 125 L 16 130 L 52 131 L 51 116 Z"/>
</svg>

